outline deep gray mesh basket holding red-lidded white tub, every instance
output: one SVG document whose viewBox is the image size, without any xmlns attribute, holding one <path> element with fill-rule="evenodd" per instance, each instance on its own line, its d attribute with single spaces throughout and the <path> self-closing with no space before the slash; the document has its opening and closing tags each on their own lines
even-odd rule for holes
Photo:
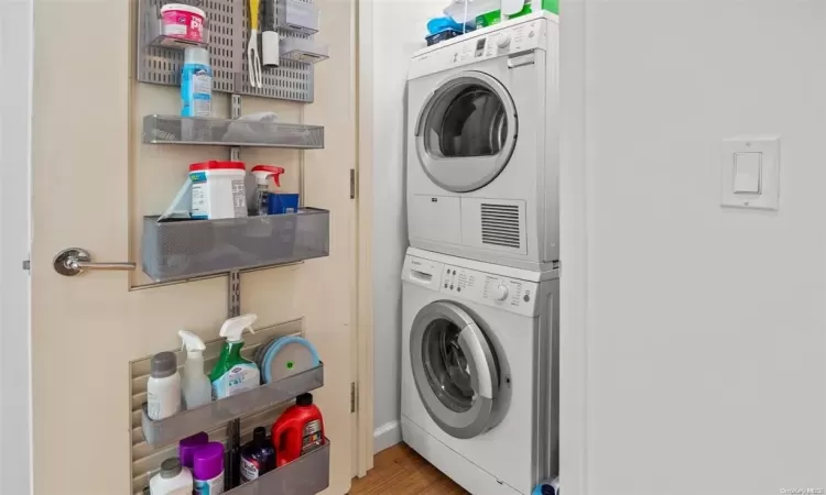
<svg viewBox="0 0 826 495">
<path fill-rule="evenodd" d="M 329 211 L 225 220 L 143 218 L 143 271 L 155 282 L 198 278 L 329 254 Z"/>
</svg>

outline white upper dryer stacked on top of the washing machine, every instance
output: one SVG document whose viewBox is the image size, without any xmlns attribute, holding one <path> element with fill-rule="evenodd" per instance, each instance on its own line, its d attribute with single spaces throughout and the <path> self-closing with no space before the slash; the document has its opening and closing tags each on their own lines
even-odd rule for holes
<svg viewBox="0 0 826 495">
<path fill-rule="evenodd" d="M 534 271 L 559 256 L 558 18 L 417 52 L 406 97 L 410 244 Z"/>
</svg>

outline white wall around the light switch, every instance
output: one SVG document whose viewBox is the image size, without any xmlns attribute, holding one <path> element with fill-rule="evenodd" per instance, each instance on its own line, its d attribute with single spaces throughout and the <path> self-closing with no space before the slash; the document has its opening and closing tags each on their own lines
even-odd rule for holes
<svg viewBox="0 0 826 495">
<path fill-rule="evenodd" d="M 575 3 L 586 199 L 563 215 L 587 238 L 562 257 L 587 289 L 563 314 L 587 353 L 563 366 L 587 450 L 563 442 L 566 493 L 826 488 L 826 2 Z M 782 135 L 778 212 L 719 206 L 720 141 L 742 133 Z"/>
</svg>

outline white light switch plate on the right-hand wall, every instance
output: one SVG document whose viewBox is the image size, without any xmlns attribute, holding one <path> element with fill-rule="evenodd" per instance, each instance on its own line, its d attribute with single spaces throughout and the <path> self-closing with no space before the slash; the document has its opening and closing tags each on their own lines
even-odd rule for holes
<svg viewBox="0 0 826 495">
<path fill-rule="evenodd" d="M 759 193 L 737 191 L 737 155 L 760 153 Z M 754 155 L 746 155 L 754 156 Z M 742 179 L 742 177 L 741 177 Z M 720 183 L 724 207 L 776 210 L 780 207 L 780 136 L 743 135 L 722 141 Z"/>
</svg>

